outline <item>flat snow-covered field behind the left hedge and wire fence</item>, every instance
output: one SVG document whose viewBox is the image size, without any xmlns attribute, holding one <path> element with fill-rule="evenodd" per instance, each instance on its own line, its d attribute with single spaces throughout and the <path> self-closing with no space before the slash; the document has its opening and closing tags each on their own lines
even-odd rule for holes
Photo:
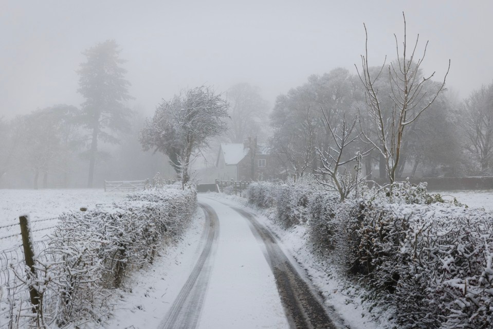
<svg viewBox="0 0 493 329">
<path fill-rule="evenodd" d="M 0 190 L 0 227 L 19 224 L 19 216 L 29 214 L 34 240 L 40 240 L 56 225 L 58 215 L 81 207 L 110 206 L 127 194 L 102 189 Z M 36 222 L 47 218 L 55 219 Z M 20 235 L 2 239 L 16 233 L 20 233 L 19 225 L 0 228 L 0 250 L 21 243 Z"/>
</svg>

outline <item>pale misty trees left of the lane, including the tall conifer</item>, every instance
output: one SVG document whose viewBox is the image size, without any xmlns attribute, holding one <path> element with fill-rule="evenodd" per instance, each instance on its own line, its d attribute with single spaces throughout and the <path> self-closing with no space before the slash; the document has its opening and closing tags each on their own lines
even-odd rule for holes
<svg viewBox="0 0 493 329">
<path fill-rule="evenodd" d="M 130 83 L 119 53 L 113 40 L 83 52 L 86 62 L 77 71 L 84 97 L 80 108 L 56 104 L 0 118 L 0 188 L 93 187 L 98 166 L 97 185 L 103 179 L 144 179 L 169 170 L 162 157 L 141 151 L 143 118 L 127 107 Z"/>
</svg>

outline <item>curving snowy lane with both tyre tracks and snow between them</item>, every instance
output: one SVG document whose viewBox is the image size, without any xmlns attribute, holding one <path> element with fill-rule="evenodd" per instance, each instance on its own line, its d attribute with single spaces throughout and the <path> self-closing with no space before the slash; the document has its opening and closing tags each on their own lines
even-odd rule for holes
<svg viewBox="0 0 493 329">
<path fill-rule="evenodd" d="M 275 237 L 250 213 L 205 196 L 199 202 L 210 223 L 207 242 L 160 329 L 335 327 Z"/>
</svg>

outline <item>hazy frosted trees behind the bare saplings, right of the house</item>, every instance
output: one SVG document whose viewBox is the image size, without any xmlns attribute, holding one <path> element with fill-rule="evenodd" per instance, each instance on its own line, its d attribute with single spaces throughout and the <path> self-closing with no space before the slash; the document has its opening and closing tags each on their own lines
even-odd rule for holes
<svg viewBox="0 0 493 329">
<path fill-rule="evenodd" d="M 377 71 L 379 68 L 370 67 Z M 391 86 L 383 79 L 377 81 L 380 104 L 392 100 Z M 428 95 L 439 88 L 430 81 L 424 85 Z M 384 95 L 387 95 L 387 99 Z M 278 96 L 270 114 L 272 135 L 269 143 L 286 170 L 296 176 L 315 172 L 319 166 L 316 148 L 328 150 L 333 144 L 330 130 L 321 108 L 334 126 L 343 116 L 357 119 L 357 129 L 368 138 L 378 138 L 374 121 L 364 111 L 364 90 L 357 75 L 336 68 L 308 78 L 307 83 Z M 422 99 L 422 104 L 429 102 Z M 392 109 L 392 105 L 387 108 Z M 384 121 L 391 120 L 392 111 L 384 113 Z M 368 149 L 368 143 L 358 139 L 352 151 Z M 445 90 L 421 116 L 412 122 L 401 144 L 401 155 L 395 178 L 423 175 L 477 176 L 491 175 L 493 167 L 493 83 L 474 90 L 464 100 Z M 373 177 L 387 177 L 385 157 L 374 149 L 363 159 L 363 168 Z"/>
</svg>

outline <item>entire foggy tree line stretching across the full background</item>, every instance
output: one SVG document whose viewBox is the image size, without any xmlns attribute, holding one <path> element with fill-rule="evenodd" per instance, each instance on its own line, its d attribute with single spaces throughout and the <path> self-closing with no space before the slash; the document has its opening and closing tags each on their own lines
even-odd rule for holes
<svg viewBox="0 0 493 329">
<path fill-rule="evenodd" d="M 84 185 L 93 187 L 95 177 L 132 179 L 173 169 L 185 183 L 207 147 L 214 156 L 218 143 L 249 137 L 268 144 L 280 171 L 295 179 L 317 174 L 341 197 L 362 174 L 390 182 L 491 175 L 493 83 L 461 101 L 445 88 L 448 70 L 440 81 L 434 72 L 425 76 L 427 43 L 417 54 L 418 40 L 408 46 L 406 32 L 400 43 L 395 39 L 396 59 L 372 66 L 367 34 L 354 73 L 335 68 L 312 75 L 279 95 L 271 111 L 259 88 L 239 83 L 224 93 L 210 86 L 181 90 L 147 120 L 127 105 L 130 83 L 118 45 L 99 43 L 83 52 L 77 71 L 80 108 L 58 104 L 0 118 L 0 187 L 5 181 L 25 187 L 27 180 L 34 188 L 49 181 L 80 187 L 84 175 Z"/>
</svg>

